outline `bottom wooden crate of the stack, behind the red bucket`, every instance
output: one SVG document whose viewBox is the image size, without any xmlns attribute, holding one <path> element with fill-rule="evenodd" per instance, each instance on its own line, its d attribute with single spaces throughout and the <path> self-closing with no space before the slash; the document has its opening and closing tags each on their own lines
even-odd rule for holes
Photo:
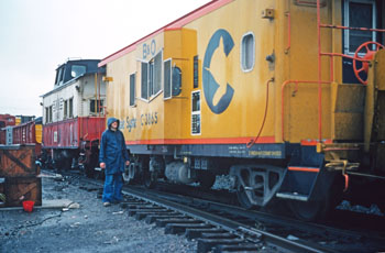
<svg viewBox="0 0 385 253">
<path fill-rule="evenodd" d="M 42 206 L 42 178 L 6 177 L 4 194 L 8 207 L 21 207 L 24 200 L 33 200 L 35 206 Z"/>
</svg>

